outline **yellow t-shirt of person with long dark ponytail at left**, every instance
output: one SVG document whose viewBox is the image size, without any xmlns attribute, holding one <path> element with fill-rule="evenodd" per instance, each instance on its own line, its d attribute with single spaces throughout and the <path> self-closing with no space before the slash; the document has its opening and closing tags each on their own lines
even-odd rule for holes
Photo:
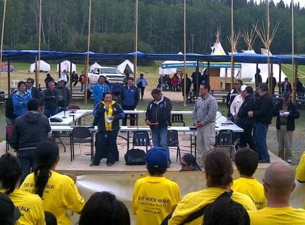
<svg viewBox="0 0 305 225">
<path fill-rule="evenodd" d="M 67 209 L 80 212 L 85 204 L 84 198 L 79 194 L 73 180 L 63 174 L 51 171 L 42 195 L 43 209 L 52 212 L 59 225 L 71 224 Z M 34 193 L 34 173 L 29 174 L 20 187 L 21 190 Z"/>
</svg>

